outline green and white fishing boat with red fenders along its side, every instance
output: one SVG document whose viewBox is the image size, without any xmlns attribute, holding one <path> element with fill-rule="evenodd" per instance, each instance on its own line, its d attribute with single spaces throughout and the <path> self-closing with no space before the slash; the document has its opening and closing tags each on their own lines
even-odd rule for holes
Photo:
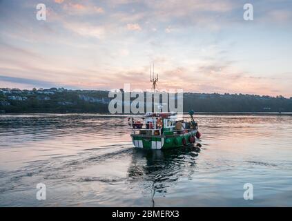
<svg viewBox="0 0 292 221">
<path fill-rule="evenodd" d="M 130 117 L 129 124 L 133 127 L 131 137 L 136 148 L 167 149 L 193 145 L 201 134 L 197 122 L 193 119 L 194 111 L 189 111 L 191 121 L 177 119 L 176 113 L 147 113 L 144 122 Z"/>
</svg>

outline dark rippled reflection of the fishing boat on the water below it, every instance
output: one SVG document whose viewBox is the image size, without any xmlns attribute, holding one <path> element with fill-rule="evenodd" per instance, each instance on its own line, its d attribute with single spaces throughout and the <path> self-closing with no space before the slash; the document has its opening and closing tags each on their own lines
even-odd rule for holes
<svg viewBox="0 0 292 221">
<path fill-rule="evenodd" d="M 198 152 L 199 148 L 193 145 L 169 150 L 135 148 L 128 182 L 130 186 L 137 184 L 145 195 L 151 193 L 152 206 L 155 206 L 155 193 L 165 196 L 168 188 L 173 189 L 181 177 L 192 179 Z"/>
</svg>

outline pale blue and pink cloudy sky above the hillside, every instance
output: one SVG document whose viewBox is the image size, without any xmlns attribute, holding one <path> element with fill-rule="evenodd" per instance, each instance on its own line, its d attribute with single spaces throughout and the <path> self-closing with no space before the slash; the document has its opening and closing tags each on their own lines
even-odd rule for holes
<svg viewBox="0 0 292 221">
<path fill-rule="evenodd" d="M 0 88 L 146 90 L 154 62 L 159 90 L 292 97 L 291 21 L 291 0 L 0 0 Z"/>
</svg>

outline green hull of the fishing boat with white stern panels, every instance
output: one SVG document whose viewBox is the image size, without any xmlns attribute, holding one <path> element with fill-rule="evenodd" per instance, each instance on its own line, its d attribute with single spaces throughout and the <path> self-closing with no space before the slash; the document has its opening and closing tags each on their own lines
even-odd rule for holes
<svg viewBox="0 0 292 221">
<path fill-rule="evenodd" d="M 162 135 L 162 136 L 150 136 L 150 135 L 135 135 L 132 134 L 132 141 L 136 148 L 146 149 L 168 149 L 179 148 L 182 146 L 188 146 L 191 143 L 190 137 L 194 136 L 197 131 L 190 131 L 184 134 L 177 135 Z M 185 144 L 183 140 L 185 139 Z"/>
</svg>

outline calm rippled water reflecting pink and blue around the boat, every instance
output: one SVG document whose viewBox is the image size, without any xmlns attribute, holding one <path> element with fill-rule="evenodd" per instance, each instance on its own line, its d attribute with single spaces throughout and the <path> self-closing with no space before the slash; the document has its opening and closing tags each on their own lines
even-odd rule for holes
<svg viewBox="0 0 292 221">
<path fill-rule="evenodd" d="M 199 153 L 134 149 L 123 117 L 0 115 L 0 206 L 292 206 L 292 117 L 197 121 Z"/>
</svg>

